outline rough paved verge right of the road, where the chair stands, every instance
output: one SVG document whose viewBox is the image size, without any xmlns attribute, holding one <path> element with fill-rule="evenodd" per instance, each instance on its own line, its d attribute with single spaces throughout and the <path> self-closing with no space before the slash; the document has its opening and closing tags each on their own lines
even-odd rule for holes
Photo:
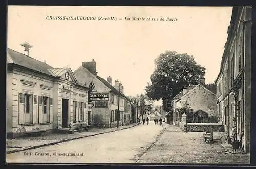
<svg viewBox="0 0 256 169">
<path fill-rule="evenodd" d="M 221 142 L 222 133 L 214 132 L 214 143 L 203 143 L 204 132 L 183 132 L 180 127 L 163 123 L 164 133 L 138 163 L 249 163 L 250 154 L 231 153 Z M 224 147 L 226 146 L 226 147 Z M 226 151 L 226 152 L 225 152 Z"/>
</svg>

